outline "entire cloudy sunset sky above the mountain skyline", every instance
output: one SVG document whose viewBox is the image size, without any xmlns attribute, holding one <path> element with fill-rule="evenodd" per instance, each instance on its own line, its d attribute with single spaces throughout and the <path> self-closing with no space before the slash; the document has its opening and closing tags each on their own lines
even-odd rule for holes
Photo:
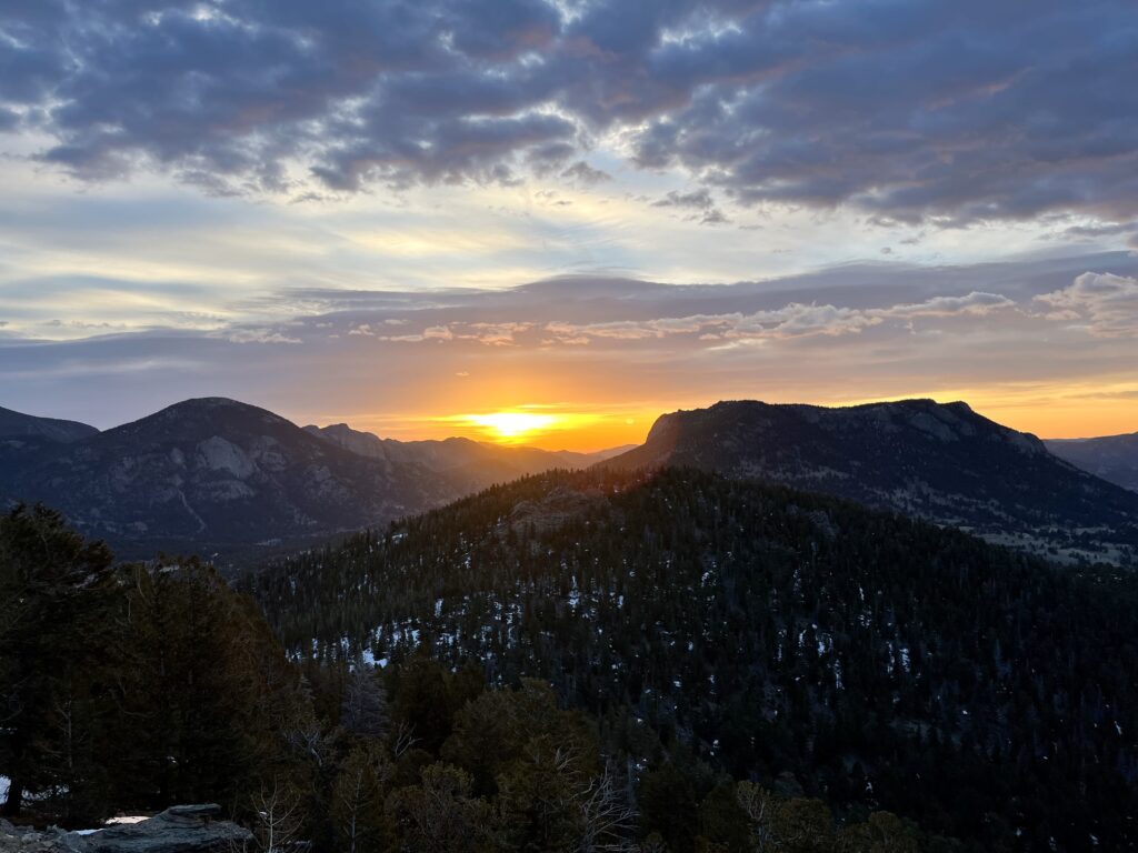
<svg viewBox="0 0 1138 853">
<path fill-rule="evenodd" d="M 1135 80 L 1132 0 L 0 0 L 0 405 L 1136 431 Z"/>
</svg>

